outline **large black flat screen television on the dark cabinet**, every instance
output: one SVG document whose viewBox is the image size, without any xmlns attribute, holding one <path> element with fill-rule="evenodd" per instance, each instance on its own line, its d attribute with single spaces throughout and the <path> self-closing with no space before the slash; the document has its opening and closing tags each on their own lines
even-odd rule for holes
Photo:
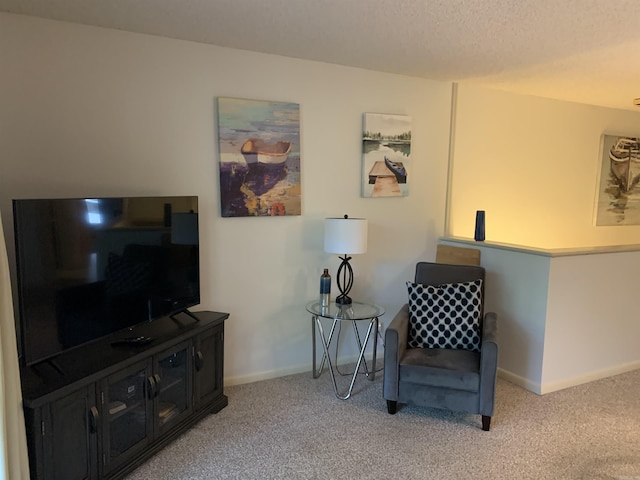
<svg viewBox="0 0 640 480">
<path fill-rule="evenodd" d="M 200 303 L 198 197 L 13 200 L 22 360 Z"/>
</svg>

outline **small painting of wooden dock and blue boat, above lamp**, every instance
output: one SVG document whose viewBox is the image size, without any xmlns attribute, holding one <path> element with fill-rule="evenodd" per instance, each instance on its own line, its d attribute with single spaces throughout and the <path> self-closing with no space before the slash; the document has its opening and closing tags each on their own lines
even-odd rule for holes
<svg viewBox="0 0 640 480">
<path fill-rule="evenodd" d="M 362 131 L 362 196 L 409 195 L 411 117 L 365 113 Z"/>
</svg>

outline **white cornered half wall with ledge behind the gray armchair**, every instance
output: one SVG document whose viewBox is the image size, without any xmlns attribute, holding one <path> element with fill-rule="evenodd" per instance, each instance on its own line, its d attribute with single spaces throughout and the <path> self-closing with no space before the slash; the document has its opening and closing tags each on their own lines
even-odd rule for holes
<svg viewBox="0 0 640 480">
<path fill-rule="evenodd" d="M 640 246 L 526 249 L 445 238 L 481 252 L 485 311 L 498 314 L 500 375 L 538 394 L 640 368 Z"/>
</svg>

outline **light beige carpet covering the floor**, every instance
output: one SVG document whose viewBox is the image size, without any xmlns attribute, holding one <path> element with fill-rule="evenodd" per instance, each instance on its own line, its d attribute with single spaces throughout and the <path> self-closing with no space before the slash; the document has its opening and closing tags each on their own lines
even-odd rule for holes
<svg viewBox="0 0 640 480">
<path fill-rule="evenodd" d="M 389 415 L 381 380 L 346 401 L 327 372 L 226 388 L 225 409 L 128 479 L 640 480 L 640 370 L 544 396 L 499 379 L 490 432 L 474 415 Z"/>
</svg>

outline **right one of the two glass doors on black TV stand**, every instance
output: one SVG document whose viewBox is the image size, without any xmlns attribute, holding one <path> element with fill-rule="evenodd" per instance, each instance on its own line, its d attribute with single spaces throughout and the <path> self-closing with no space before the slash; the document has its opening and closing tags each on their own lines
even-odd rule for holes
<svg viewBox="0 0 640 480">
<path fill-rule="evenodd" d="M 156 420 L 159 431 L 191 413 L 191 349 L 183 342 L 156 356 Z"/>
</svg>

